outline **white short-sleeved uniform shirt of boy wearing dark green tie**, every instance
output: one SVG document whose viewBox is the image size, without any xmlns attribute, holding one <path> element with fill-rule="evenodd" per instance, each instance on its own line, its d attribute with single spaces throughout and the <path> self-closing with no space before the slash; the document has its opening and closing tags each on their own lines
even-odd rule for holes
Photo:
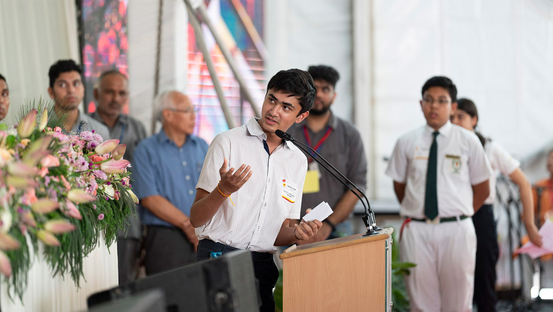
<svg viewBox="0 0 553 312">
<path fill-rule="evenodd" d="M 426 168 L 434 129 L 425 125 L 398 139 L 386 174 L 395 182 L 405 183 L 405 197 L 400 215 L 422 219 L 426 190 Z M 492 169 L 476 134 L 452 125 L 442 126 L 436 137 L 437 195 L 440 218 L 471 216 L 472 186 L 492 175 Z"/>
</svg>

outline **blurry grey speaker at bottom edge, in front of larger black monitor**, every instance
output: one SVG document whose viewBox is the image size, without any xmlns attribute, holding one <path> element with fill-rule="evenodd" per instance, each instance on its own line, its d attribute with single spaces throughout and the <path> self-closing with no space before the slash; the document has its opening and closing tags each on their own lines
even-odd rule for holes
<svg viewBox="0 0 553 312">
<path fill-rule="evenodd" d="M 167 304 L 161 289 L 150 289 L 93 306 L 88 312 L 165 312 Z"/>
</svg>

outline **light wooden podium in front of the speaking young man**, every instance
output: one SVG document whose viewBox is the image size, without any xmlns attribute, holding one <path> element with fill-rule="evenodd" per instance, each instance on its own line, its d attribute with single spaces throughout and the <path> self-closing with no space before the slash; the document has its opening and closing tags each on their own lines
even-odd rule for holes
<svg viewBox="0 0 553 312">
<path fill-rule="evenodd" d="M 392 232 L 286 249 L 283 311 L 391 311 Z"/>
</svg>

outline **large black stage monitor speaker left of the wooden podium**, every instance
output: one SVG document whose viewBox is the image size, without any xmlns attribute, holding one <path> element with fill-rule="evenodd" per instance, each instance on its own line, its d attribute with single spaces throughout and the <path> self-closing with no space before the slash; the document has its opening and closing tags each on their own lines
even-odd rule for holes
<svg viewBox="0 0 553 312">
<path fill-rule="evenodd" d="M 259 311 L 252 256 L 248 250 L 228 252 L 93 294 L 88 297 L 88 307 L 154 288 L 163 290 L 167 311 L 171 312 Z"/>
</svg>

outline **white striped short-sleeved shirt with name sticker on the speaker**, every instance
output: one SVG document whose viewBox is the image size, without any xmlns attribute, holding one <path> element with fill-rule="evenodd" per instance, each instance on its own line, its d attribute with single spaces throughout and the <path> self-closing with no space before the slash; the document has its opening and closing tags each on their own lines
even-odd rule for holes
<svg viewBox="0 0 553 312">
<path fill-rule="evenodd" d="M 252 117 L 246 125 L 218 134 L 207 151 L 196 188 L 218 192 L 223 158 L 228 168 L 250 165 L 252 176 L 226 199 L 204 226 L 198 239 L 239 249 L 276 252 L 274 241 L 285 219 L 299 219 L 307 158 L 290 142 L 276 147 L 269 156 L 267 135 Z"/>
</svg>

